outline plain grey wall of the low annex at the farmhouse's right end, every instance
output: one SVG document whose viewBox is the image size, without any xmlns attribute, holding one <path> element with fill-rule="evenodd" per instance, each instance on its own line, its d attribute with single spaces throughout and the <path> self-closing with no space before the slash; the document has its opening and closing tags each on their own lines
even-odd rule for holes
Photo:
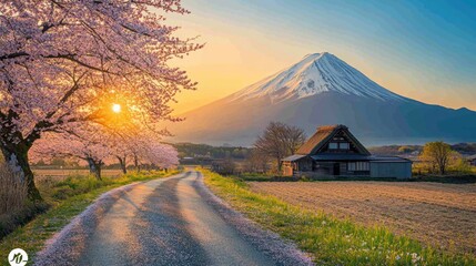
<svg viewBox="0 0 476 266">
<path fill-rule="evenodd" d="M 371 162 L 371 177 L 411 178 L 412 162 Z"/>
</svg>

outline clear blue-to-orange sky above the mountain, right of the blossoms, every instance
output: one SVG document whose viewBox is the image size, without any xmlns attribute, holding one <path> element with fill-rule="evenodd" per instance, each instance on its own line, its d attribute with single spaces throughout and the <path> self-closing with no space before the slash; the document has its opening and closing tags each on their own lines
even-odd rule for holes
<svg viewBox="0 0 476 266">
<path fill-rule="evenodd" d="M 475 1 L 184 0 L 169 17 L 205 48 L 178 65 L 199 82 L 176 112 L 327 51 L 404 96 L 476 110 Z"/>
</svg>

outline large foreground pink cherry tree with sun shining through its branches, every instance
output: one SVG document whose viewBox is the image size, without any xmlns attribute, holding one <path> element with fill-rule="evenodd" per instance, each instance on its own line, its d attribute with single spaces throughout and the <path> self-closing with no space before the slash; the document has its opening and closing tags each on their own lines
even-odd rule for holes
<svg viewBox="0 0 476 266">
<path fill-rule="evenodd" d="M 108 124 L 119 102 L 128 117 L 173 120 L 168 105 L 186 73 L 169 61 L 201 44 L 174 35 L 165 12 L 180 0 L 0 0 L 0 149 L 41 198 L 28 151 L 44 132 Z"/>
</svg>

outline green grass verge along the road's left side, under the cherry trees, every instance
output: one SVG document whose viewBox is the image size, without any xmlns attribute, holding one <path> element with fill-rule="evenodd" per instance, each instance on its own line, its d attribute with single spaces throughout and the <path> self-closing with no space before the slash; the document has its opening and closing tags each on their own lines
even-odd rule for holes
<svg viewBox="0 0 476 266">
<path fill-rule="evenodd" d="M 105 177 L 102 181 L 92 176 L 75 175 L 61 182 L 42 182 L 39 184 L 39 190 L 51 208 L 0 241 L 0 265 L 9 265 L 7 256 L 13 248 L 24 249 L 30 256 L 29 262 L 31 263 L 47 239 L 69 224 L 74 216 L 82 213 L 101 194 L 122 185 L 178 173 L 178 171 L 133 172 L 119 177 Z"/>
</svg>

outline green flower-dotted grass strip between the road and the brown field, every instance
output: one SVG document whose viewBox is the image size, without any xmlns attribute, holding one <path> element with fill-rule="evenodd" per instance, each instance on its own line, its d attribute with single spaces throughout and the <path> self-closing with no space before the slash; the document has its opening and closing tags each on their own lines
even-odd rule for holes
<svg viewBox="0 0 476 266">
<path fill-rule="evenodd" d="M 296 243 L 317 265 L 476 265 L 472 254 L 435 249 L 382 226 L 364 227 L 311 212 L 253 193 L 237 178 L 200 171 L 216 195 L 249 218 Z"/>
</svg>

